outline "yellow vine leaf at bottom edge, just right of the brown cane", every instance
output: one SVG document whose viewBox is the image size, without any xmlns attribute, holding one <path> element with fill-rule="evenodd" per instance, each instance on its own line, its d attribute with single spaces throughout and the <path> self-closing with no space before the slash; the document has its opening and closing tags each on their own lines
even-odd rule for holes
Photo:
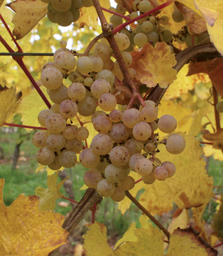
<svg viewBox="0 0 223 256">
<path fill-rule="evenodd" d="M 85 239 L 83 248 L 86 250 L 88 256 L 110 256 L 113 255 L 113 249 L 107 243 L 107 228 L 103 223 L 88 224 L 90 229 L 84 234 Z"/>
</svg>

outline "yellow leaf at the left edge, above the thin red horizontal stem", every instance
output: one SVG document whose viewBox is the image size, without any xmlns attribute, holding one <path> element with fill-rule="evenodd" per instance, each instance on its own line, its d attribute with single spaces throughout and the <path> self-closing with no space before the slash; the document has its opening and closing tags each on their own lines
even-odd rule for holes
<svg viewBox="0 0 223 256">
<path fill-rule="evenodd" d="M 2 87 L 0 84 L 0 126 L 10 122 L 15 115 L 15 109 L 21 94 L 16 95 L 15 87 Z"/>
</svg>

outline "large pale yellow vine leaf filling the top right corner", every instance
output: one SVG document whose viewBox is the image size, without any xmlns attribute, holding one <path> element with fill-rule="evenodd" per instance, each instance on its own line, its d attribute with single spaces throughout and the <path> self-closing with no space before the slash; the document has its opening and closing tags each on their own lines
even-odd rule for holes
<svg viewBox="0 0 223 256">
<path fill-rule="evenodd" d="M 179 0 L 178 2 L 189 7 L 198 15 L 206 19 L 206 25 L 211 41 L 216 49 L 223 55 L 223 15 L 222 0 Z"/>
</svg>

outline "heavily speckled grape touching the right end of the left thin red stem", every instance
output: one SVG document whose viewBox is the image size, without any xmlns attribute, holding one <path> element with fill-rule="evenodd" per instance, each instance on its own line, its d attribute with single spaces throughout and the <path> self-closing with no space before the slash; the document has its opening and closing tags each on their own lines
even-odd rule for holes
<svg viewBox="0 0 223 256">
<path fill-rule="evenodd" d="M 66 119 L 60 114 L 53 114 L 47 118 L 46 127 L 50 133 L 61 133 L 66 127 Z"/>
</svg>

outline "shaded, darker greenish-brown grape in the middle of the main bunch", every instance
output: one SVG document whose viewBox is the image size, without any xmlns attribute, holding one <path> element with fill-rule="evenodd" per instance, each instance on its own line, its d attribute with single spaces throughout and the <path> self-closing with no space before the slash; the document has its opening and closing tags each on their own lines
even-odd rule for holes
<svg viewBox="0 0 223 256">
<path fill-rule="evenodd" d="M 78 113 L 82 116 L 91 116 L 97 108 L 97 104 L 91 97 L 84 97 L 77 104 Z"/>
</svg>

